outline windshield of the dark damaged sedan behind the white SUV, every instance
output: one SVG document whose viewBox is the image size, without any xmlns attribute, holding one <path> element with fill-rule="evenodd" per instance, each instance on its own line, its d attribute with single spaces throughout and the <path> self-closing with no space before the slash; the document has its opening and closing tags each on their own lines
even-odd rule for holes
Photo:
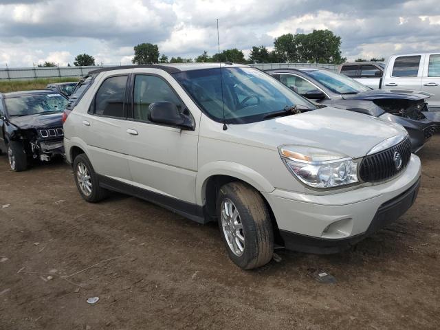
<svg viewBox="0 0 440 330">
<path fill-rule="evenodd" d="M 329 70 L 310 70 L 307 74 L 337 94 L 358 94 L 370 88 L 343 74 Z"/>
</svg>

